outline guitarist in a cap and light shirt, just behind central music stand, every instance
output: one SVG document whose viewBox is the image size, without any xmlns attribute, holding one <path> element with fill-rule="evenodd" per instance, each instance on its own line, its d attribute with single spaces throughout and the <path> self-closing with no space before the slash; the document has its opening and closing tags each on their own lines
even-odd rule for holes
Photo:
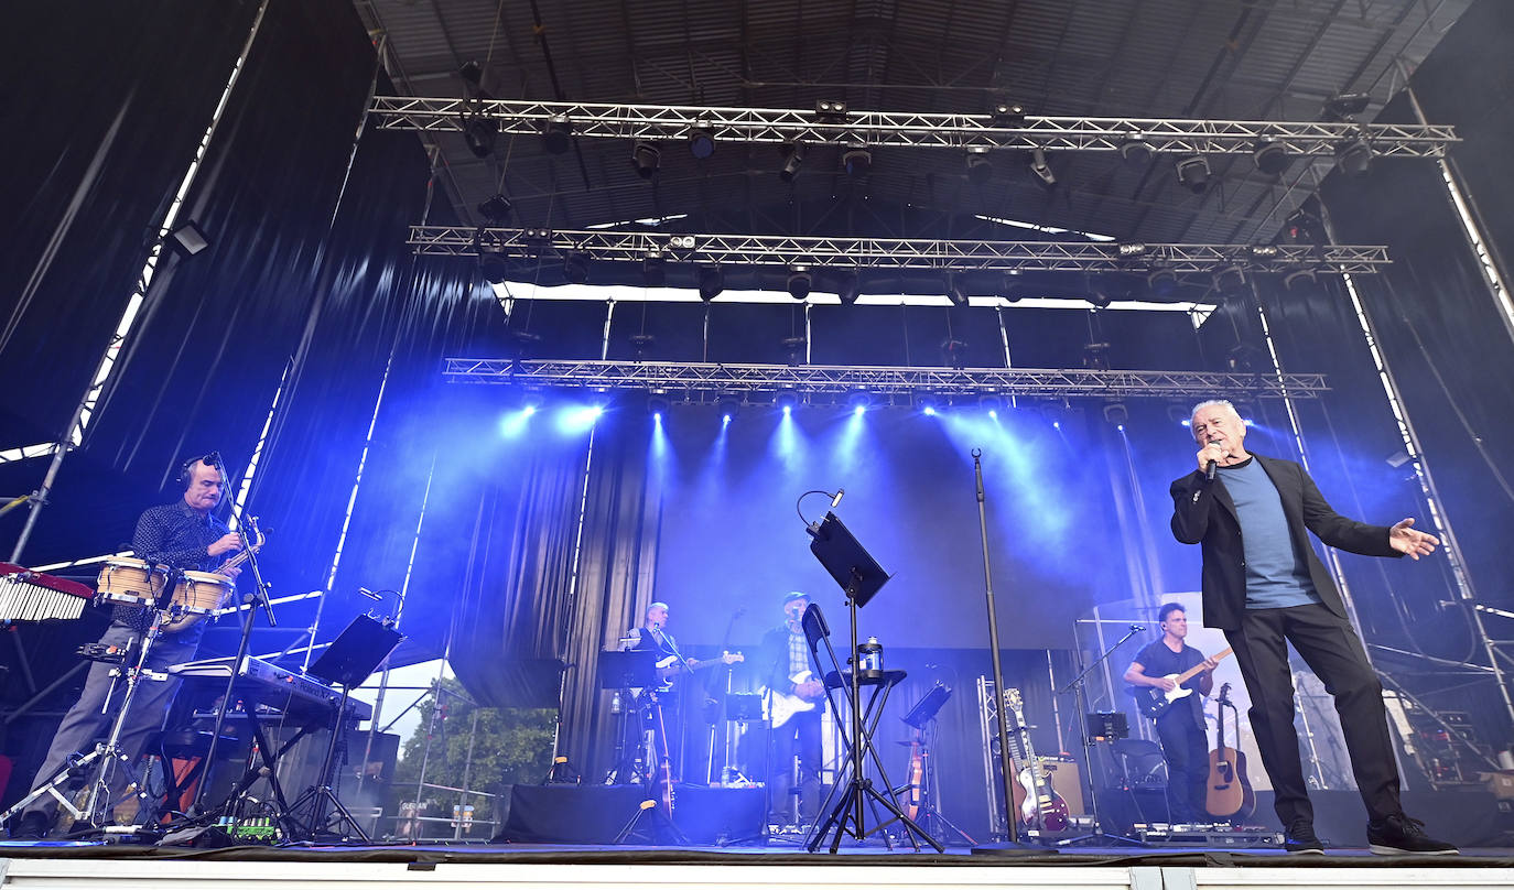
<svg viewBox="0 0 1514 890">
<path fill-rule="evenodd" d="M 793 590 L 783 596 L 783 624 L 769 630 L 762 639 L 760 668 L 763 684 L 774 693 L 792 695 L 804 702 L 815 702 L 810 710 L 789 716 L 781 727 L 769 733 L 768 770 L 768 822 L 786 825 L 790 822 L 789 799 L 799 792 L 799 822 L 815 820 L 821 792 L 821 707 L 825 687 L 819 680 L 807 677 L 812 672 L 810 645 L 804 639 L 801 619 L 810 605 L 810 595 Z M 795 680 L 799 678 L 801 680 Z M 795 786 L 793 763 L 799 761 L 798 786 Z"/>
</svg>

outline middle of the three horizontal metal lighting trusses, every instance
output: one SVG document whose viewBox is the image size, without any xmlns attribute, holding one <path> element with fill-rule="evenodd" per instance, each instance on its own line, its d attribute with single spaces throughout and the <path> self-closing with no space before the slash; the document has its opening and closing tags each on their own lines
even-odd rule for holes
<svg viewBox="0 0 1514 890">
<path fill-rule="evenodd" d="M 412 226 L 407 241 L 424 256 L 503 257 L 584 253 L 592 260 L 642 262 L 648 254 L 677 262 L 828 265 L 917 269 L 1043 269 L 1208 272 L 1240 266 L 1252 271 L 1313 268 L 1322 272 L 1372 274 L 1388 265 L 1387 247 L 1307 244 L 1145 244 L 1086 241 L 930 241 L 919 238 L 793 238 L 786 235 L 663 235 L 645 232 L 463 229 Z"/>
</svg>

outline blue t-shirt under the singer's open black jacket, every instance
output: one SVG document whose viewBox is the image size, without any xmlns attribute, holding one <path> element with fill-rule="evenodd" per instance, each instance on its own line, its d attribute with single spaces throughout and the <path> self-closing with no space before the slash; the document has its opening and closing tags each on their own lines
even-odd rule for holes
<svg viewBox="0 0 1514 890">
<path fill-rule="evenodd" d="M 1246 555 L 1246 608 L 1284 608 L 1320 602 L 1310 568 L 1293 549 L 1282 496 L 1255 459 L 1222 466 L 1220 480 L 1240 519 Z"/>
</svg>

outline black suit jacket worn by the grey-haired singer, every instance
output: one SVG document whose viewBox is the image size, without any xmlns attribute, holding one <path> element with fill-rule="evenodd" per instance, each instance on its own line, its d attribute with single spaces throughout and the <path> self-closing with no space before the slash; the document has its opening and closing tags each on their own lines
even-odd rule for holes
<svg viewBox="0 0 1514 890">
<path fill-rule="evenodd" d="M 1325 607 L 1346 618 L 1346 604 L 1331 580 L 1325 563 L 1314 554 L 1307 531 L 1329 546 L 1363 555 L 1403 555 L 1388 543 L 1385 525 L 1367 525 L 1337 513 L 1320 495 L 1314 480 L 1291 460 L 1252 456 L 1261 465 L 1282 496 L 1282 513 L 1288 519 L 1288 537 L 1294 552 L 1310 568 L 1310 580 Z M 1219 478 L 1208 481 L 1193 471 L 1172 483 L 1172 534 L 1182 543 L 1204 548 L 1204 625 L 1238 630 L 1246 611 L 1246 551 L 1240 540 L 1240 519 L 1235 501 Z"/>
</svg>

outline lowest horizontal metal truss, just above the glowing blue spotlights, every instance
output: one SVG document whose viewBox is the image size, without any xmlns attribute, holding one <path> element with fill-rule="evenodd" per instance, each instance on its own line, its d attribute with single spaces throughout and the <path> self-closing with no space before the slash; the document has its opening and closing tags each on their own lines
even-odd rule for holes
<svg viewBox="0 0 1514 890">
<path fill-rule="evenodd" d="M 595 392 L 634 389 L 669 401 L 706 401 L 712 394 L 771 401 L 780 392 L 798 397 L 872 397 L 917 394 L 1317 398 L 1329 387 L 1323 374 L 1216 374 L 1204 371 L 1092 371 L 1046 368 L 886 368 L 837 365 L 719 365 L 671 362 L 571 362 L 447 359 L 444 375 L 456 383 L 522 387 L 571 387 Z"/>
</svg>

